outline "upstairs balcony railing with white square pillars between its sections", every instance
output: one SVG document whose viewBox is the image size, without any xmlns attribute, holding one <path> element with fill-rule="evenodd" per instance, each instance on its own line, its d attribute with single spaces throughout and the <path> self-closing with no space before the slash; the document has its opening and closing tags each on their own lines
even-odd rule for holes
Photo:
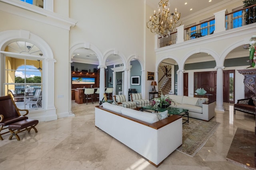
<svg viewBox="0 0 256 170">
<path fill-rule="evenodd" d="M 256 22 L 256 4 L 247 8 L 242 8 L 226 14 L 226 9 L 214 13 L 213 19 L 204 21 L 197 25 L 186 27 L 181 25 L 177 27 L 177 31 L 171 33 L 168 37 L 157 37 L 155 47 L 156 49 L 166 47 L 169 45 L 178 44 L 184 41 L 191 41 L 192 39 L 204 37 L 214 33 L 243 27 Z"/>
</svg>

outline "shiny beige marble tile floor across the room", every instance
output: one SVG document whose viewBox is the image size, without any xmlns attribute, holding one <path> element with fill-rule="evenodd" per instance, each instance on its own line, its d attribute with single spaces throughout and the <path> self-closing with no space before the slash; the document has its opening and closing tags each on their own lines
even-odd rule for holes
<svg viewBox="0 0 256 170">
<path fill-rule="evenodd" d="M 202 149 L 190 157 L 174 151 L 158 167 L 94 126 L 94 106 L 72 101 L 75 117 L 39 122 L 38 133 L 20 133 L 21 141 L 0 141 L 1 170 L 244 170 L 226 160 L 236 129 L 254 131 L 253 115 L 225 104 L 210 121 L 221 124 Z M 170 144 L 171 145 L 171 144 Z M 241 155 L 242 156 L 242 155 Z"/>
</svg>

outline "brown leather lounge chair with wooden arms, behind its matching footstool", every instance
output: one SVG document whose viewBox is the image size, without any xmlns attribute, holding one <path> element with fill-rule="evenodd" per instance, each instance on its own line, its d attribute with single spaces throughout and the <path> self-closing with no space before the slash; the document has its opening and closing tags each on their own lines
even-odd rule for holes
<svg viewBox="0 0 256 170">
<path fill-rule="evenodd" d="M 24 115 L 20 114 L 20 111 L 26 111 Z M 0 140 L 4 140 L 2 135 L 9 133 L 10 131 L 6 131 L 1 133 L 2 130 L 7 129 L 8 125 L 12 123 L 16 123 L 18 121 L 26 120 L 28 117 L 27 109 L 18 109 L 14 100 L 10 94 L 8 96 L 1 96 L 0 97 Z M 7 127 L 6 127 L 7 126 Z"/>
</svg>

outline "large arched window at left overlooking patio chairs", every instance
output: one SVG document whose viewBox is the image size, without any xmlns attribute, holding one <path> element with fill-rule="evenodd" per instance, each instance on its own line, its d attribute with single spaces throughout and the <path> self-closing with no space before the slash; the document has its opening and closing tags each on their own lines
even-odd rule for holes
<svg viewBox="0 0 256 170">
<path fill-rule="evenodd" d="M 13 41 L 4 51 L 10 52 L 5 56 L 5 94 L 11 94 L 20 109 L 42 108 L 42 51 L 27 41 Z"/>
</svg>

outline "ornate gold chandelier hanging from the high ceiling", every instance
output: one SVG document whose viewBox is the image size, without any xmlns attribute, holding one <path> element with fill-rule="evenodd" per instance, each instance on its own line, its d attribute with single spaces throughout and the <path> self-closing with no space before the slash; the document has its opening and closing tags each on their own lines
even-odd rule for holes
<svg viewBox="0 0 256 170">
<path fill-rule="evenodd" d="M 162 14 L 160 12 L 161 6 Z M 170 6 L 169 0 L 160 0 L 158 2 L 158 13 L 154 11 L 154 14 L 150 16 L 147 22 L 147 27 L 152 33 L 156 33 L 158 37 L 168 37 L 176 26 L 181 24 L 181 22 L 179 23 L 180 13 L 175 9 L 175 12 L 171 14 L 168 6 Z"/>
</svg>

